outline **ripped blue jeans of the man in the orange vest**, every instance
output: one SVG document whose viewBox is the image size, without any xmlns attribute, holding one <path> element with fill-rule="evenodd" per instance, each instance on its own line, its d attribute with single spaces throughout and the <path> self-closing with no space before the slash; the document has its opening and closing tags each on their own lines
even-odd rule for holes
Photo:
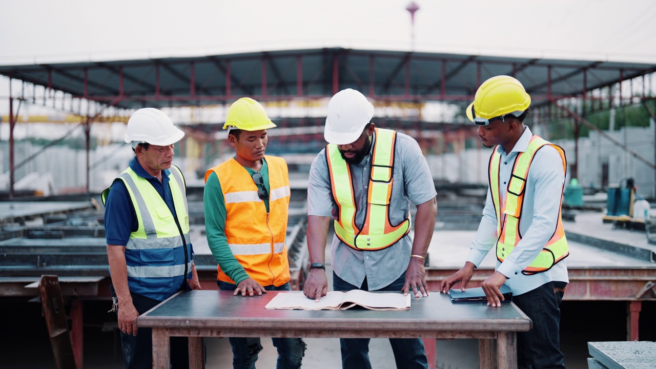
<svg viewBox="0 0 656 369">
<path fill-rule="evenodd" d="M 234 291 L 237 286 L 232 283 L 216 281 L 218 289 L 222 291 Z M 289 282 L 282 286 L 264 286 L 267 291 L 291 291 Z M 241 296 L 240 296 L 241 297 Z M 252 298 L 252 297 L 243 297 Z M 232 368 L 255 369 L 257 354 L 262 351 L 262 345 L 258 337 L 230 337 L 232 347 Z M 305 342 L 300 338 L 272 338 L 278 351 L 277 369 L 298 369 L 305 355 Z"/>
</svg>

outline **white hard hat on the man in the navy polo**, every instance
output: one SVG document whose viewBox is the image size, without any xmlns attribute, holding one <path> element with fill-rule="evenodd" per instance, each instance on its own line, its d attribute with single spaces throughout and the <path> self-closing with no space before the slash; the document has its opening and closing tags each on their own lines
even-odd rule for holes
<svg viewBox="0 0 656 369">
<path fill-rule="evenodd" d="M 155 108 L 139 109 L 127 121 L 125 142 L 168 146 L 182 137 L 184 132 L 173 125 L 171 118 Z"/>
</svg>

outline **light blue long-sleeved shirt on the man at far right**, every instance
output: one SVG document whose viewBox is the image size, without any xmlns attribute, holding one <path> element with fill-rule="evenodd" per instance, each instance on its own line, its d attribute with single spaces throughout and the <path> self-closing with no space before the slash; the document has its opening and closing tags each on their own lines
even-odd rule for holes
<svg viewBox="0 0 656 369">
<path fill-rule="evenodd" d="M 526 151 L 531 137 L 533 137 L 533 133 L 529 127 L 526 127 L 510 154 L 506 154 L 506 150 L 502 146 L 497 148 L 497 152 L 501 154 L 499 191 L 502 203 L 505 201 L 508 180 L 518 153 Z M 497 260 L 496 269 L 508 277 L 506 286 L 512 290 L 514 295 L 529 292 L 547 282 L 569 282 L 565 259 L 546 272 L 533 275 L 522 274 L 523 269 L 537 257 L 556 230 L 564 183 L 565 173 L 560 154 L 552 146 L 544 146 L 537 151 L 529 168 L 520 217 L 522 240 L 503 263 L 499 263 Z M 478 267 L 489 251 L 496 253 L 495 245 L 498 237 L 497 215 L 488 188 L 483 219 L 478 226 L 478 232 L 472 242 L 467 261 Z"/>
</svg>

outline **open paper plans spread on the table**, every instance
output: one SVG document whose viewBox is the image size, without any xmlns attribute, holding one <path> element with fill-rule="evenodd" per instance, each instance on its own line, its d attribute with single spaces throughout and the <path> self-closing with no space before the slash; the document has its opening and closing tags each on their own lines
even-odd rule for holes
<svg viewBox="0 0 656 369">
<path fill-rule="evenodd" d="M 266 304 L 266 309 L 344 310 L 358 305 L 371 310 L 407 310 L 410 309 L 410 300 L 410 293 L 404 296 L 403 293 L 351 290 L 329 291 L 316 302 L 305 297 L 303 293 L 279 292 Z"/>
</svg>

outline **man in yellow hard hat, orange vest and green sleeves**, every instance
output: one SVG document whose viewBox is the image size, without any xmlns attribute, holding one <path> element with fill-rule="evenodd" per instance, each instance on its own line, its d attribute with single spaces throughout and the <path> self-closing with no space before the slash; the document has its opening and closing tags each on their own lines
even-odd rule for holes
<svg viewBox="0 0 656 369">
<path fill-rule="evenodd" d="M 276 127 L 262 105 L 243 97 L 230 106 L 223 129 L 236 154 L 205 173 L 205 230 L 218 263 L 220 290 L 244 297 L 289 291 L 289 176 L 283 158 L 264 154 L 266 130 Z M 305 343 L 272 338 L 277 369 L 300 368 Z M 230 337 L 235 369 L 255 368 L 258 337 Z"/>
</svg>

